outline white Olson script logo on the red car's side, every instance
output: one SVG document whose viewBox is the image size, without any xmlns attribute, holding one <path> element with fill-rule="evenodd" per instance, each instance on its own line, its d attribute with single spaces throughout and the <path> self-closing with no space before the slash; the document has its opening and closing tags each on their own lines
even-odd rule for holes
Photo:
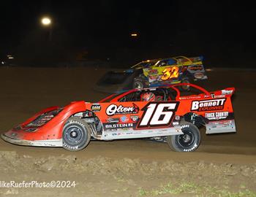
<svg viewBox="0 0 256 197">
<path fill-rule="evenodd" d="M 127 114 L 137 114 L 139 112 L 139 107 L 133 104 L 132 107 L 124 107 L 121 104 L 110 104 L 106 109 L 106 114 L 111 115 L 127 115 Z"/>
</svg>

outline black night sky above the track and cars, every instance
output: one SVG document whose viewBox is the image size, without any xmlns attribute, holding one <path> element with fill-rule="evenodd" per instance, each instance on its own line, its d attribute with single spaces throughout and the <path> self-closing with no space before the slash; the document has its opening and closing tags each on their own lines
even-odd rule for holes
<svg viewBox="0 0 256 197">
<path fill-rule="evenodd" d="M 13 55 L 18 66 L 124 66 L 203 55 L 206 67 L 252 68 L 255 7 L 249 2 L 1 1 L 0 55 Z M 47 28 L 40 24 L 45 15 L 53 20 Z"/>
</svg>

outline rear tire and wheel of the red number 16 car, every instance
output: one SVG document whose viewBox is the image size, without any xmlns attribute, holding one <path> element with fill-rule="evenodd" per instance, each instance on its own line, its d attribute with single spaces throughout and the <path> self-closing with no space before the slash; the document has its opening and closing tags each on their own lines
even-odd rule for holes
<svg viewBox="0 0 256 197">
<path fill-rule="evenodd" d="M 192 123 L 181 123 L 181 131 L 184 134 L 167 136 L 167 144 L 170 149 L 177 152 L 192 152 L 200 145 L 201 137 L 199 129 Z"/>
</svg>

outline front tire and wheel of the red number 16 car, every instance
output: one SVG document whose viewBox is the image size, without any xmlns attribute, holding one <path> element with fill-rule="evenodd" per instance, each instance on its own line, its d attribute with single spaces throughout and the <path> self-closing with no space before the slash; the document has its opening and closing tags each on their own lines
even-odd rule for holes
<svg viewBox="0 0 256 197">
<path fill-rule="evenodd" d="M 64 125 L 62 144 L 64 149 L 78 151 L 85 148 L 91 139 L 89 125 L 79 117 L 69 117 Z"/>
</svg>

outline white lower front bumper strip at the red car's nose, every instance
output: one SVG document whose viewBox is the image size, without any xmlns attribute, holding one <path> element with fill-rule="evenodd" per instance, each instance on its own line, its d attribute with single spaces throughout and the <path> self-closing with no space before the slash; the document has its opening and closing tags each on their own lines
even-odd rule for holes
<svg viewBox="0 0 256 197">
<path fill-rule="evenodd" d="M 22 146 L 33 146 L 33 147 L 62 147 L 62 139 L 48 139 L 48 140 L 24 140 L 15 139 L 5 134 L 1 134 L 1 139 L 12 144 L 18 144 Z"/>
</svg>

